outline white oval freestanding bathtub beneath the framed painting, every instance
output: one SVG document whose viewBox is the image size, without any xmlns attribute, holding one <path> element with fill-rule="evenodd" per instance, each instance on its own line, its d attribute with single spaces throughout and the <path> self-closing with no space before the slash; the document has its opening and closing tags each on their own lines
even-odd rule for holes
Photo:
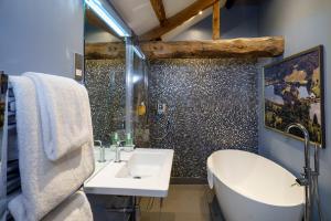
<svg viewBox="0 0 331 221">
<path fill-rule="evenodd" d="M 301 221 L 305 190 L 296 177 L 256 154 L 218 150 L 207 159 L 213 186 L 226 221 Z"/>
</svg>

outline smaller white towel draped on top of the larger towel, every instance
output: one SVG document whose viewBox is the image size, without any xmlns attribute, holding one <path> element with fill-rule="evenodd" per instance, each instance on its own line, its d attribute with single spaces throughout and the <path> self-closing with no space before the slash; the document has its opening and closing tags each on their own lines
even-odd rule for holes
<svg viewBox="0 0 331 221">
<path fill-rule="evenodd" d="M 42 139 L 49 159 L 57 160 L 90 141 L 92 120 L 86 88 L 72 78 L 28 72 L 36 88 Z"/>
</svg>

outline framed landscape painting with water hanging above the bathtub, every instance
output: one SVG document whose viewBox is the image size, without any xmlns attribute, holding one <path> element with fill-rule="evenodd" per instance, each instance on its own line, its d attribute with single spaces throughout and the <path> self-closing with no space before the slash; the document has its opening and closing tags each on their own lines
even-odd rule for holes
<svg viewBox="0 0 331 221">
<path fill-rule="evenodd" d="M 323 46 L 319 45 L 264 67 L 265 127 L 302 139 L 286 127 L 302 124 L 310 141 L 325 147 Z"/>
</svg>

